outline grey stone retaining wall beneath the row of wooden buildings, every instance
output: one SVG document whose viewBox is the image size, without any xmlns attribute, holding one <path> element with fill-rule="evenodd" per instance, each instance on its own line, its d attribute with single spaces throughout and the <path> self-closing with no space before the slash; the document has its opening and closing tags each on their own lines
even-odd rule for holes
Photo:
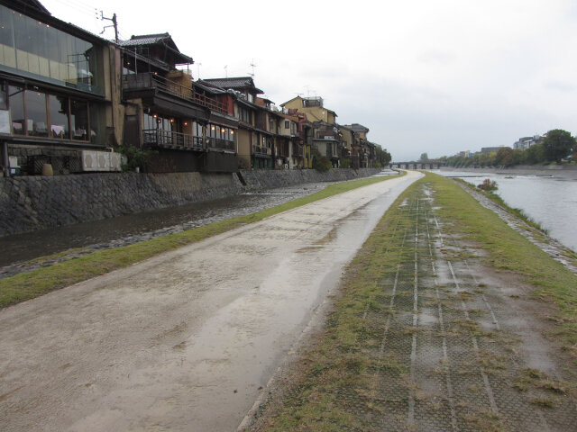
<svg viewBox="0 0 577 432">
<path fill-rule="evenodd" d="M 291 184 L 351 180 L 380 169 L 241 171 L 234 174 L 22 176 L 0 179 L 0 237 L 224 198 Z"/>
</svg>

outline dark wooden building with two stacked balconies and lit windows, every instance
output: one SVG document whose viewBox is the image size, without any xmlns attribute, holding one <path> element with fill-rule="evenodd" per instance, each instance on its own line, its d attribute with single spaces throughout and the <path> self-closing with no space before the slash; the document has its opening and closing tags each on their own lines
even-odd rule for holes
<svg viewBox="0 0 577 432">
<path fill-rule="evenodd" d="M 194 83 L 193 59 L 169 33 L 133 36 L 123 48 L 124 145 L 150 148 L 151 171 L 238 169 L 233 97 Z"/>
</svg>

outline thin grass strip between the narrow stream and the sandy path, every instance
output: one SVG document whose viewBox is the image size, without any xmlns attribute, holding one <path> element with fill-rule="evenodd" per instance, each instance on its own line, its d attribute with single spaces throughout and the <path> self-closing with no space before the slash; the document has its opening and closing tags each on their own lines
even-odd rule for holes
<svg viewBox="0 0 577 432">
<path fill-rule="evenodd" d="M 247 223 L 263 220 L 282 211 L 289 211 L 338 193 L 344 193 L 362 186 L 397 177 L 397 175 L 368 177 L 350 182 L 330 184 L 322 191 L 311 193 L 310 195 L 290 202 L 284 202 L 270 209 L 227 220 L 220 220 L 203 227 L 142 241 L 130 246 L 97 251 L 84 257 L 60 262 L 53 266 L 14 275 L 0 280 L 0 308 L 33 299 L 42 294 L 86 281 L 98 275 L 104 275 L 119 268 L 131 266 L 139 261 L 159 255 L 162 252 L 221 234 Z"/>
</svg>

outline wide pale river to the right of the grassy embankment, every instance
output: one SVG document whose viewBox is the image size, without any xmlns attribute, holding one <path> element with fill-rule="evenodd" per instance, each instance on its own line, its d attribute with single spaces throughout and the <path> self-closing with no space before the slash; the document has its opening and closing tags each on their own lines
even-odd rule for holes
<svg viewBox="0 0 577 432">
<path fill-rule="evenodd" d="M 480 170 L 481 171 L 481 170 Z M 508 206 L 521 209 L 538 222 L 549 235 L 577 252 L 577 179 L 563 172 L 538 175 L 434 170 L 436 174 L 463 178 L 481 184 L 489 178 L 498 185 L 495 191 Z"/>
</svg>

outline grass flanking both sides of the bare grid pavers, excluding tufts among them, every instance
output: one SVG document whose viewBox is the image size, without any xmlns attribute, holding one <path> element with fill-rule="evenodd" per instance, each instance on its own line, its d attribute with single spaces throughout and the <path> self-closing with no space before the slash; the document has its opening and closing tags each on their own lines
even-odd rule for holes
<svg viewBox="0 0 577 432">
<path fill-rule="evenodd" d="M 512 272 L 534 284 L 537 296 L 557 305 L 563 317 L 559 335 L 569 347 L 575 347 L 577 276 L 510 229 L 458 184 L 426 173 L 401 193 L 347 266 L 324 329 L 309 347 L 301 350 L 296 372 L 287 379 L 287 388 L 280 390 L 279 400 L 261 407 L 267 414 L 257 420 L 252 430 L 375 430 L 355 401 L 368 401 L 370 410 L 378 410 L 371 406 L 371 400 L 384 399 L 406 407 L 403 396 L 383 394 L 374 387 L 375 374 L 380 374 L 380 380 L 385 382 L 402 382 L 408 364 L 387 352 L 375 355 L 384 322 L 370 323 L 365 317 L 371 312 L 386 316 L 389 300 L 383 299 L 382 284 L 392 284 L 398 263 L 413 259 L 412 250 L 401 246 L 404 233 L 414 235 L 415 229 L 406 202 L 424 183 L 435 191 L 436 211 L 447 222 L 444 232 L 464 234 L 466 240 L 484 249 L 485 266 Z M 577 352 L 573 351 L 573 356 Z"/>
</svg>

